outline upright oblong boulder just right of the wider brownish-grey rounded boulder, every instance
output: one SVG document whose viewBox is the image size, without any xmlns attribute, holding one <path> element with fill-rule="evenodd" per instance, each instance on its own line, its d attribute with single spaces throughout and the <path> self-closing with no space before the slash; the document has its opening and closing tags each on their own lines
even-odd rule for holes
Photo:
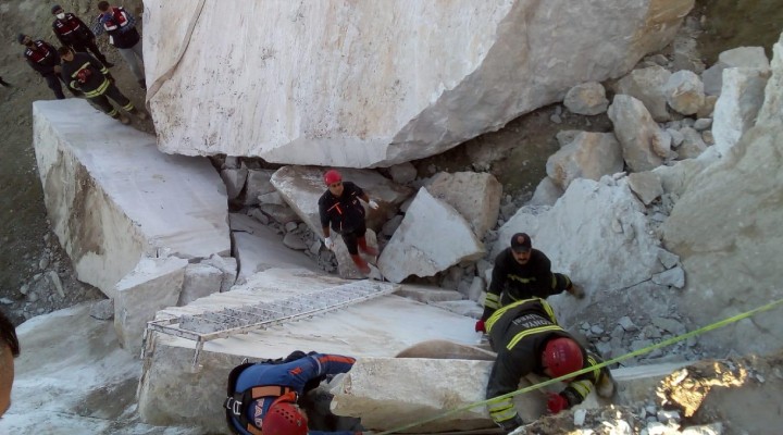
<svg viewBox="0 0 783 435">
<path fill-rule="evenodd" d="M 608 114 L 622 146 L 623 159 L 632 171 L 650 171 L 662 163 L 654 150 L 654 142 L 661 136 L 660 127 L 642 101 L 631 96 L 614 96 Z"/>
</svg>

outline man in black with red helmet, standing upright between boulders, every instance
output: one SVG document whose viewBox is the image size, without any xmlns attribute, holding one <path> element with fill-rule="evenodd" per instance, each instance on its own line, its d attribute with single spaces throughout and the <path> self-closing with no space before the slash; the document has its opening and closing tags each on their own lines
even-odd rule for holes
<svg viewBox="0 0 783 435">
<path fill-rule="evenodd" d="M 330 225 L 335 233 L 343 236 L 348 248 L 348 253 L 353 263 L 363 274 L 370 273 L 370 266 L 359 254 L 359 249 L 368 256 L 377 256 L 377 249 L 366 244 L 366 223 L 364 222 L 364 207 L 359 202 L 366 202 L 368 206 L 377 210 L 377 202 L 373 201 L 351 182 L 343 182 L 343 175 L 335 170 L 328 170 L 324 174 L 324 183 L 327 190 L 319 199 L 319 214 L 324 234 L 324 246 L 326 249 L 334 249 L 334 240 L 330 232 Z"/>
</svg>

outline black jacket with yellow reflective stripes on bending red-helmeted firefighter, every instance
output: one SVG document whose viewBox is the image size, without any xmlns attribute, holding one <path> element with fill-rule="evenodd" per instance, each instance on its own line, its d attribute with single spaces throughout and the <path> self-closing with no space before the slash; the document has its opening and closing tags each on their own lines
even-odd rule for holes
<svg viewBox="0 0 783 435">
<path fill-rule="evenodd" d="M 542 365 L 546 344 L 559 337 L 573 339 L 558 325 L 549 303 L 540 298 L 520 300 L 498 309 L 486 322 L 486 330 L 493 350 L 497 352 L 486 389 L 487 399 L 517 390 L 520 380 L 527 374 L 546 376 Z M 584 348 L 582 355 L 583 369 L 601 362 Z M 600 376 L 600 369 L 596 369 L 572 378 L 560 393 L 568 400 L 569 408 L 581 403 Z M 517 418 L 511 398 L 490 402 L 488 409 L 493 421 L 498 424 Z"/>
</svg>

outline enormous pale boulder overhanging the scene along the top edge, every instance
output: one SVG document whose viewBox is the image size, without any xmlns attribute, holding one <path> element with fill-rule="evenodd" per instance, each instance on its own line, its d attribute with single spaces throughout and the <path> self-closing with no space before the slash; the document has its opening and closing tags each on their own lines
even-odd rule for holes
<svg viewBox="0 0 783 435">
<path fill-rule="evenodd" d="M 148 0 L 147 99 L 169 153 L 390 166 L 622 76 L 693 5 Z"/>
</svg>

